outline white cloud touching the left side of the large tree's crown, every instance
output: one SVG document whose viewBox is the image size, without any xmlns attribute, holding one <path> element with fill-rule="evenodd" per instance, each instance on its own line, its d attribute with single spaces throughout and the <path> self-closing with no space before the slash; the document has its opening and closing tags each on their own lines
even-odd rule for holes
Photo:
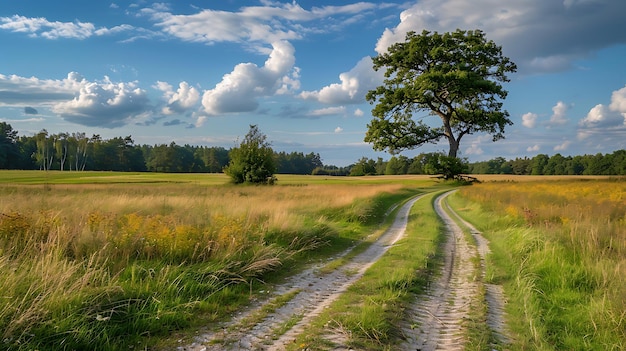
<svg viewBox="0 0 626 351">
<path fill-rule="evenodd" d="M 333 83 L 318 91 L 303 91 L 300 97 L 325 104 L 355 104 L 365 101 L 371 89 L 382 84 L 384 72 L 374 71 L 372 59 L 363 57 L 348 72 L 339 75 L 340 83 Z"/>
</svg>

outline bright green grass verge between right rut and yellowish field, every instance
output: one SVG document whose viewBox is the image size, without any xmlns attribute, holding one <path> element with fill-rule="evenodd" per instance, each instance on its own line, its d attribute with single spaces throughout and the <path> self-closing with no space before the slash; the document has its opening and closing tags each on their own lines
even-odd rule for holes
<svg viewBox="0 0 626 351">
<path fill-rule="evenodd" d="M 601 277 L 549 231 L 490 212 L 455 194 L 450 204 L 490 241 L 487 281 L 507 298 L 510 350 L 623 350 L 624 324 L 599 289 Z M 624 320 L 622 315 L 622 321 Z M 612 327 L 606 327 L 611 326 Z"/>
</svg>

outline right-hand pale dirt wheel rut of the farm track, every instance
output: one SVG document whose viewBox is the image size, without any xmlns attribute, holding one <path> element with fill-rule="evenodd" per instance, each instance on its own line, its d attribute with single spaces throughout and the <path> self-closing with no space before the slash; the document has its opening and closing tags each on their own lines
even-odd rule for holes
<svg viewBox="0 0 626 351">
<path fill-rule="evenodd" d="M 444 222 L 447 239 L 444 245 L 444 263 L 441 276 L 433 281 L 425 296 L 420 297 L 408 310 L 404 323 L 406 337 L 400 345 L 402 350 L 463 350 L 467 342 L 466 321 L 472 308 L 480 305 L 480 291 L 484 276 L 484 260 L 489 253 L 488 241 L 471 224 L 447 206 L 448 211 L 462 221 L 471 232 L 475 242 L 468 242 L 459 225 L 444 210 L 443 201 L 451 192 L 435 200 L 435 211 Z M 472 261 L 480 257 L 480 268 Z M 486 284 L 487 323 L 500 342 L 506 342 L 502 290 Z"/>
</svg>

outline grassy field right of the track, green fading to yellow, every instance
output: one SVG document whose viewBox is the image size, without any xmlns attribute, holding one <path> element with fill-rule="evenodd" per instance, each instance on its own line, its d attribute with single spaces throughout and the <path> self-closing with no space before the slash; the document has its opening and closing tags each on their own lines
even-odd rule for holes
<svg viewBox="0 0 626 351">
<path fill-rule="evenodd" d="M 450 200 L 491 241 L 511 349 L 626 349 L 626 181 L 522 179 Z"/>
</svg>

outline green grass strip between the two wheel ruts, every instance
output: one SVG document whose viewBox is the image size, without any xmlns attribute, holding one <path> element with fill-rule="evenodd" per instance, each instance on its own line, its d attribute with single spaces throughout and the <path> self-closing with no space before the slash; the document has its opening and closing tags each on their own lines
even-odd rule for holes
<svg viewBox="0 0 626 351">
<path fill-rule="evenodd" d="M 344 333 L 355 349 L 393 349 L 404 308 L 414 294 L 424 291 L 440 259 L 441 222 L 431 204 L 435 195 L 425 195 L 415 203 L 407 235 L 322 312 L 292 349 L 332 349 L 323 338 L 328 329 Z"/>
</svg>

